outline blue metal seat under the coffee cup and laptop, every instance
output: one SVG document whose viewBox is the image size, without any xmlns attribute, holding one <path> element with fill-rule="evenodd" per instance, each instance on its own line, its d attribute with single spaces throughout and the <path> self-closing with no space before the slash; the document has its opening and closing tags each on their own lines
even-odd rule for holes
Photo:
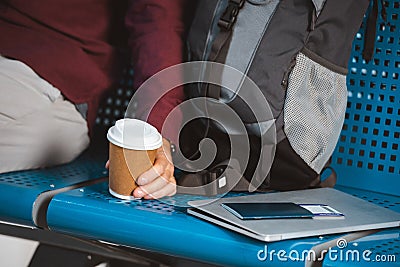
<svg viewBox="0 0 400 267">
<path fill-rule="evenodd" d="M 340 237 L 257 241 L 188 215 L 187 201 L 199 198 L 176 195 L 162 201 L 120 200 L 108 193 L 104 182 L 56 195 L 48 208 L 48 225 L 67 235 L 228 266 L 284 266 L 288 262 L 304 266 L 305 252 Z M 272 250 L 276 252 L 270 257 Z M 300 258 L 280 261 L 279 250 Z"/>
</svg>

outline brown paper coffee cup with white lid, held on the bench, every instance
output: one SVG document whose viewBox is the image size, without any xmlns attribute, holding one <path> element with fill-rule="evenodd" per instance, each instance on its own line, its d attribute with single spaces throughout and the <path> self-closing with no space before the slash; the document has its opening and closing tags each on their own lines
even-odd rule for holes
<svg viewBox="0 0 400 267">
<path fill-rule="evenodd" d="M 162 136 L 150 124 L 121 119 L 107 133 L 110 142 L 109 192 L 121 199 L 135 199 L 136 179 L 149 170 L 162 145 Z"/>
</svg>

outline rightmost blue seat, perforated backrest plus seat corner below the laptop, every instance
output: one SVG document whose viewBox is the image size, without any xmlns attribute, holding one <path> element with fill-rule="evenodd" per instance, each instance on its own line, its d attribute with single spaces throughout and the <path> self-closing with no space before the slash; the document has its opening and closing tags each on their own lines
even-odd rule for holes
<svg viewBox="0 0 400 267">
<path fill-rule="evenodd" d="M 378 16 L 374 58 L 361 56 L 365 21 L 353 42 L 346 120 L 332 166 L 337 189 L 400 212 L 400 4 L 384 5 L 388 20 Z M 342 259 L 327 256 L 323 266 L 400 266 L 400 228 L 332 250 Z"/>
</svg>

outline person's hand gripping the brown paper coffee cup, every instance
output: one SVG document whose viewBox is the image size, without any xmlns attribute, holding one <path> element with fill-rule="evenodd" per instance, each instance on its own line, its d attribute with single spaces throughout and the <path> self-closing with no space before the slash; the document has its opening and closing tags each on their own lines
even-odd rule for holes
<svg viewBox="0 0 400 267">
<path fill-rule="evenodd" d="M 136 183 L 139 186 L 133 191 L 133 195 L 138 198 L 158 199 L 175 195 L 174 164 L 168 140 L 163 139 L 162 147 L 157 150 L 153 168 L 142 173 Z"/>
</svg>

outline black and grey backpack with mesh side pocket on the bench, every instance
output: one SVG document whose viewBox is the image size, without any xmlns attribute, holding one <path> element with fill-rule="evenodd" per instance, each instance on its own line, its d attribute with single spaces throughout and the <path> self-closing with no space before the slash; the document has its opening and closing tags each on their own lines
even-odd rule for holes
<svg viewBox="0 0 400 267">
<path fill-rule="evenodd" d="M 182 163 L 189 173 L 178 184 L 213 186 L 178 192 L 320 186 L 344 121 L 347 63 L 368 5 L 369 0 L 198 1 L 188 51 L 191 62 L 204 62 L 195 68 L 200 82 L 185 92 L 200 101 L 184 112 L 196 119 L 188 118 L 180 133 L 190 161 Z M 200 153 L 204 138 L 214 145 Z M 215 157 L 206 168 L 192 164 L 213 146 Z"/>
</svg>

